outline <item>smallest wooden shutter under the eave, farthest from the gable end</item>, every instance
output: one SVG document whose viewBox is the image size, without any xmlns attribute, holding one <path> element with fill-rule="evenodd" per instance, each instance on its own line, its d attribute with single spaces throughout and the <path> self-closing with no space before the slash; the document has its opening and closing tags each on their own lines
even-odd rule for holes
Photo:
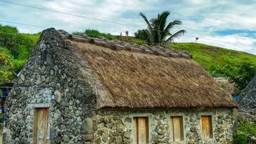
<svg viewBox="0 0 256 144">
<path fill-rule="evenodd" d="M 212 138 L 212 116 L 201 116 L 201 136 L 202 138 Z"/>
</svg>

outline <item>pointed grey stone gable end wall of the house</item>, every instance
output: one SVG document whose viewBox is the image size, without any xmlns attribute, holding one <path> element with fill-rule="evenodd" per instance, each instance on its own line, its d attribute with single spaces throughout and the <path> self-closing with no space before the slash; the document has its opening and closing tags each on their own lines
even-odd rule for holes
<svg viewBox="0 0 256 144">
<path fill-rule="evenodd" d="M 49 107 L 51 143 L 83 143 L 82 120 L 93 116 L 95 92 L 67 46 L 55 29 L 42 33 L 6 100 L 5 144 L 32 144 L 38 105 Z"/>
</svg>

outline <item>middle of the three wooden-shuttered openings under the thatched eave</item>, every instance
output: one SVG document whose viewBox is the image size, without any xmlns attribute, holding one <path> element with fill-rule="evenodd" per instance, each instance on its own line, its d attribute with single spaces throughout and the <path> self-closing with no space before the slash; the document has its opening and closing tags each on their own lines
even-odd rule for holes
<svg viewBox="0 0 256 144">
<path fill-rule="evenodd" d="M 171 141 L 184 140 L 183 118 L 181 116 L 171 117 L 170 128 Z"/>
</svg>

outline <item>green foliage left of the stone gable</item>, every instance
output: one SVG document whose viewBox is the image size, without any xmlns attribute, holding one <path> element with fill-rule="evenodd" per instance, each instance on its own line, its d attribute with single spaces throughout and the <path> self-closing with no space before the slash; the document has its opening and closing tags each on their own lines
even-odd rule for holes
<svg viewBox="0 0 256 144">
<path fill-rule="evenodd" d="M 39 34 L 19 34 L 16 27 L 0 25 L 0 82 L 15 79 L 14 72 L 27 62 L 37 39 Z"/>
</svg>

